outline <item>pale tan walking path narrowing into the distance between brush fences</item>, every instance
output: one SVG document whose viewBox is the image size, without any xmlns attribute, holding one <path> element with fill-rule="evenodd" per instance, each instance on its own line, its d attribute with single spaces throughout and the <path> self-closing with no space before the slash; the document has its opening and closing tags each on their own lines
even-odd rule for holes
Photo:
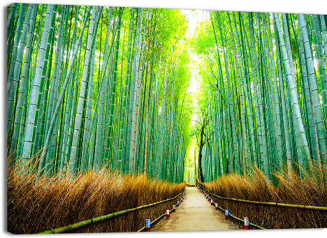
<svg viewBox="0 0 327 238">
<path fill-rule="evenodd" d="M 224 214 L 217 211 L 196 187 L 187 187 L 184 200 L 170 218 L 162 218 L 152 232 L 191 230 L 240 230 Z"/>
</svg>

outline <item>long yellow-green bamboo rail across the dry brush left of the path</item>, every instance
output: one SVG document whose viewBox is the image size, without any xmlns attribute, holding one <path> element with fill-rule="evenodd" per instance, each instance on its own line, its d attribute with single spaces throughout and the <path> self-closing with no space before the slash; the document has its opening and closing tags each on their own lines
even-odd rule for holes
<svg viewBox="0 0 327 238">
<path fill-rule="evenodd" d="M 138 209 L 143 209 L 145 207 L 152 207 L 152 206 L 154 206 L 156 204 L 159 204 L 159 203 L 162 203 L 162 202 L 168 202 L 170 200 L 173 200 L 173 199 L 177 198 L 181 194 L 182 193 L 179 193 L 174 198 L 168 198 L 166 200 L 162 200 L 162 201 L 159 201 L 159 202 L 154 202 L 154 203 L 151 203 L 151 204 L 146 204 L 146 205 L 143 205 L 143 206 L 140 206 L 140 207 L 135 207 L 135 208 L 126 209 L 126 210 L 122 210 L 122 211 L 116 211 L 116 212 L 111 213 L 111 214 L 107 214 L 107 215 L 104 215 L 104 216 L 98 216 L 96 218 L 91 218 L 91 219 L 86 220 L 86 221 L 80 221 L 78 223 L 73 223 L 71 225 L 66 225 L 66 226 L 63 226 L 61 228 L 55 228 L 55 229 L 51 229 L 51 230 L 46 230 L 44 232 L 39 232 L 36 235 L 59 234 L 59 233 L 62 233 L 62 232 L 68 232 L 69 230 L 74 230 L 74 229 L 77 229 L 77 228 L 82 228 L 82 227 L 84 227 L 86 225 L 90 225 L 92 223 L 97 223 L 99 221 L 103 221 L 103 220 L 106 220 L 108 218 L 112 218 L 114 216 L 119 216 L 119 215 L 122 215 L 122 214 L 126 214 L 126 213 L 128 213 L 130 211 L 135 211 L 135 210 L 138 210 Z"/>
</svg>

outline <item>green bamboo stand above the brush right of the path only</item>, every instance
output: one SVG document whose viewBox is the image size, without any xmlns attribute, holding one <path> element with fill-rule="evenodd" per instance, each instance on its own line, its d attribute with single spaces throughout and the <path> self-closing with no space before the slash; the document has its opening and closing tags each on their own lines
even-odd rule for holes
<svg viewBox="0 0 327 238">
<path fill-rule="evenodd" d="M 277 172 L 296 171 L 325 187 L 326 15 L 212 10 L 207 19 L 194 36 L 201 181 L 256 166 L 274 184 Z"/>
</svg>

